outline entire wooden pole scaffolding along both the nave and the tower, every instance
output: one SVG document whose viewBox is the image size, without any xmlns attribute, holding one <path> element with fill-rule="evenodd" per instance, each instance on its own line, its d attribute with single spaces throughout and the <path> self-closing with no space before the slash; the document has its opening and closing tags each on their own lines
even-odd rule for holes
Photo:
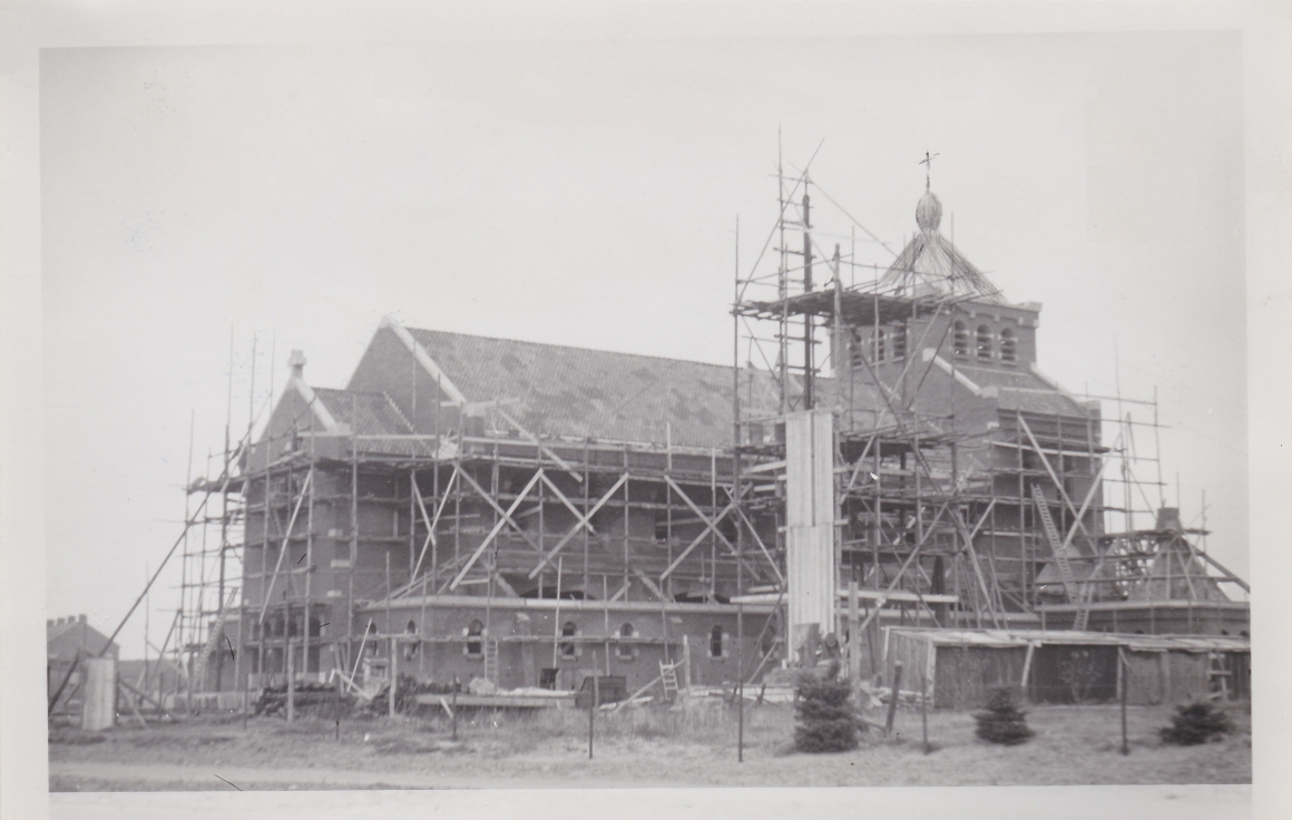
<svg viewBox="0 0 1292 820">
<path fill-rule="evenodd" d="M 402 404 L 314 391 L 293 353 L 284 391 L 270 383 L 258 411 L 251 400 L 240 441 L 226 423 L 209 477 L 187 482 L 180 607 L 154 649 L 185 673 L 190 701 L 288 678 L 357 685 L 410 662 L 421 676 L 434 647 L 483 660 L 494 683 L 508 648 L 550 649 L 553 666 L 580 647 L 603 652 L 607 669 L 611 653 L 647 647 L 683 662 L 674 620 L 696 607 L 755 617 L 736 627 L 761 654 L 744 678 L 789 662 L 800 648 L 784 613 L 786 423 L 814 409 L 833 415 L 840 590 L 823 631 L 844 636 L 867 674 L 879 671 L 881 623 L 1094 629 L 1105 610 L 1115 626 L 1151 581 L 1169 595 L 1182 579 L 1186 598 L 1213 608 L 1214 585 L 1247 588 L 1195 543 L 1205 526 L 1163 519 L 1155 397 L 1123 398 L 1120 385 L 1076 397 L 1025 369 L 1019 339 L 983 340 L 957 317 L 1039 307 L 1005 303 L 953 237 L 924 235 L 942 266 L 917 266 L 913 242 L 888 248 L 806 169 L 776 176 L 775 224 L 747 273 L 736 261 L 729 442 L 678 445 L 668 426 L 663 441 L 535 435 L 517 418 L 519 396 L 473 401 L 483 397 L 465 396 L 391 319 L 379 332 L 407 366 Z M 823 228 L 814 197 L 850 224 Z M 921 208 L 935 226 L 941 206 Z M 894 261 L 862 259 L 858 230 Z M 832 252 L 826 237 L 840 239 Z M 966 272 L 968 285 L 956 278 Z M 1031 380 L 977 384 L 966 372 L 983 349 Z M 375 423 L 381 413 L 402 432 Z M 550 607 L 550 631 L 508 634 L 501 618 L 518 601 Z M 437 614 L 451 607 L 482 614 L 457 631 Z M 625 607 L 658 626 L 611 623 Z M 568 631 L 563 610 L 603 612 L 603 629 Z M 711 651 L 726 652 L 720 638 Z"/>
</svg>

